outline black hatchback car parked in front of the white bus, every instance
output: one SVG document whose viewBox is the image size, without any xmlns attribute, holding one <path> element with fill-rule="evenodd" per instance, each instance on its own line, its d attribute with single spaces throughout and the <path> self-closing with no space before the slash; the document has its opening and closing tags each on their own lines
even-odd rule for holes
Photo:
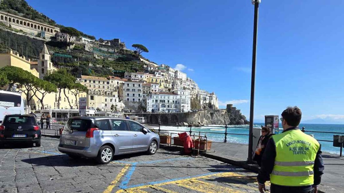
<svg viewBox="0 0 344 193">
<path fill-rule="evenodd" d="M 41 146 L 41 130 L 31 114 L 11 114 L 0 125 L 0 146 L 8 143 L 32 143 Z"/>
</svg>

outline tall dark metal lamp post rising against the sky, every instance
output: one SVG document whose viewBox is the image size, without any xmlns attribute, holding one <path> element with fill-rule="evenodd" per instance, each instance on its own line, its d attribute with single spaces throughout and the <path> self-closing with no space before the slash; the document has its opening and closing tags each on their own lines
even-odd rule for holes
<svg viewBox="0 0 344 193">
<path fill-rule="evenodd" d="M 253 23 L 253 48 L 252 48 L 252 75 L 251 75 L 251 101 L 250 101 L 250 129 L 248 137 L 248 162 L 252 162 L 253 155 L 253 117 L 255 99 L 255 79 L 256 79 L 256 54 L 257 54 L 257 32 L 258 32 L 258 7 L 260 0 L 251 0 L 255 5 L 255 15 Z"/>
</svg>

